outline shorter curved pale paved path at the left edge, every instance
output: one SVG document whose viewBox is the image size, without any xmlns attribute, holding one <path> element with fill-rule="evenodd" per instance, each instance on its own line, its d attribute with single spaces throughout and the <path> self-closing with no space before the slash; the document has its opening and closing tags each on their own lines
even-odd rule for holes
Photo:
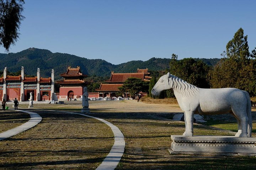
<svg viewBox="0 0 256 170">
<path fill-rule="evenodd" d="M 10 109 L 10 110 L 14 110 L 14 109 Z M 17 111 L 30 114 L 30 117 L 31 117 L 30 120 L 28 120 L 26 123 L 24 123 L 16 128 L 13 128 L 13 129 L 10 129 L 10 130 L 0 133 L 0 141 L 4 140 L 5 138 L 17 135 L 25 130 L 28 130 L 28 129 L 36 126 L 42 120 L 42 117 L 37 113 L 29 112 L 29 111 L 22 111 L 22 110 L 17 110 Z"/>
</svg>

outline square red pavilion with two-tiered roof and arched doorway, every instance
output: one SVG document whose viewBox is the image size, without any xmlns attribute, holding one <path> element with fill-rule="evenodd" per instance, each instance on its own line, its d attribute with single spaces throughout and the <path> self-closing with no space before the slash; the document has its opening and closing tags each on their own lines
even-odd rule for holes
<svg viewBox="0 0 256 170">
<path fill-rule="evenodd" d="M 80 67 L 68 67 L 66 73 L 60 74 L 64 80 L 57 81 L 60 84 L 59 100 L 67 100 L 68 98 L 81 98 L 83 94 L 83 87 L 86 82 L 83 80 L 87 75 L 82 74 Z"/>
</svg>

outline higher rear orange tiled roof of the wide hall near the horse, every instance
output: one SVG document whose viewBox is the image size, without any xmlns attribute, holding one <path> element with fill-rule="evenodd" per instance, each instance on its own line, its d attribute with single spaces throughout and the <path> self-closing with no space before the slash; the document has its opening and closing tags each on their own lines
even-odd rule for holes
<svg viewBox="0 0 256 170">
<path fill-rule="evenodd" d="M 123 83 L 128 78 L 139 78 L 144 80 L 144 73 L 114 73 L 111 72 L 111 77 L 106 80 L 107 83 Z"/>
</svg>

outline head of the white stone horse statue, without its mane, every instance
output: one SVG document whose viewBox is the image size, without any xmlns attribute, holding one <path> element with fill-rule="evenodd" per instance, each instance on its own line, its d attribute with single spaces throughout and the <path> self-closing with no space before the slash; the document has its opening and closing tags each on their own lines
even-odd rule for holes
<svg viewBox="0 0 256 170">
<path fill-rule="evenodd" d="M 170 73 L 167 73 L 160 77 L 160 79 L 156 82 L 153 89 L 151 90 L 151 94 L 154 96 L 159 96 L 161 91 L 171 89 L 173 82 L 169 80 Z"/>
</svg>

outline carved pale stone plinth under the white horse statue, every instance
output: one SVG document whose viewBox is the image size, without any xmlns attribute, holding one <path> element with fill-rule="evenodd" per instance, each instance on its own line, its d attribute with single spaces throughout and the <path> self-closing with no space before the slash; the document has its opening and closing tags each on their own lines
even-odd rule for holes
<svg viewBox="0 0 256 170">
<path fill-rule="evenodd" d="M 256 156 L 256 138 L 171 135 L 171 154 Z"/>
</svg>

